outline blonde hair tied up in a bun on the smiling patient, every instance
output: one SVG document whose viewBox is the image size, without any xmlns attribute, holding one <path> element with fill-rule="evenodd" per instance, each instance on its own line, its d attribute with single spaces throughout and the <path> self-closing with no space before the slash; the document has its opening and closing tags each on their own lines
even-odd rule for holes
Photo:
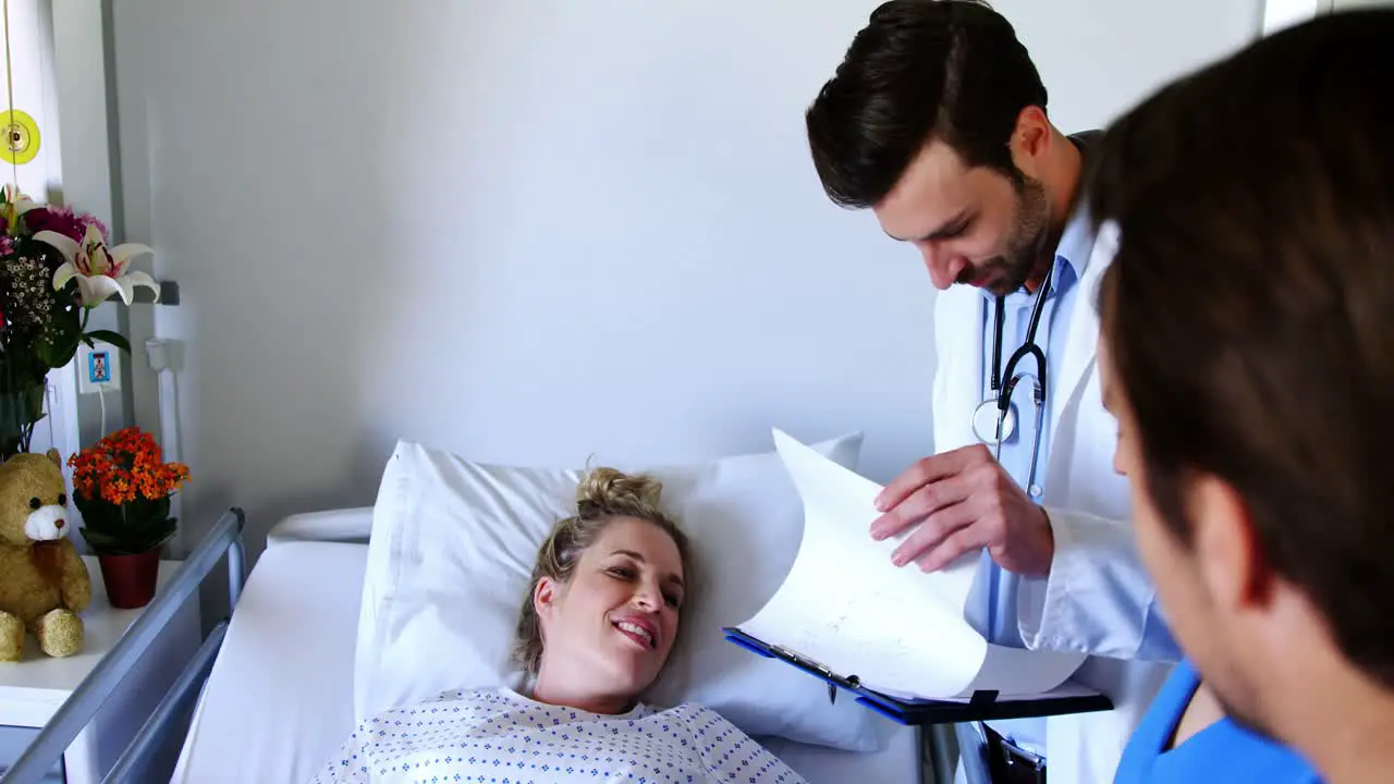
<svg viewBox="0 0 1394 784">
<path fill-rule="evenodd" d="M 542 578 L 563 585 L 570 582 L 581 554 L 599 538 L 612 520 L 637 518 L 658 526 L 677 545 L 683 572 L 689 571 L 687 536 L 658 508 L 662 491 L 664 485 L 657 478 L 647 474 L 625 474 L 611 467 L 591 470 L 576 485 L 576 513 L 558 520 L 538 550 L 533 579 L 523 598 L 523 611 L 519 614 L 513 657 L 523 664 L 530 677 L 535 678 L 542 664 L 542 626 L 533 604 L 538 582 Z"/>
</svg>

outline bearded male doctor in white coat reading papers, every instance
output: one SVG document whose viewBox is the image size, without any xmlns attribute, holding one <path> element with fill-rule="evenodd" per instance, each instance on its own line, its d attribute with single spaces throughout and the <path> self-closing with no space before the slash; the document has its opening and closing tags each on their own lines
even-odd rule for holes
<svg viewBox="0 0 1394 784">
<path fill-rule="evenodd" d="M 1076 206 L 1097 134 L 1062 134 L 1046 102 L 987 6 L 892 0 L 820 91 L 807 134 L 832 201 L 870 208 L 942 290 L 934 455 L 887 487 L 871 536 L 913 527 L 896 568 L 976 554 L 977 626 L 998 644 L 1092 654 L 1075 677 L 1115 706 L 960 725 L 960 759 L 994 783 L 1048 770 L 1104 784 L 1179 650 L 1132 547 L 1100 402 L 1093 292 L 1112 248 Z"/>
</svg>

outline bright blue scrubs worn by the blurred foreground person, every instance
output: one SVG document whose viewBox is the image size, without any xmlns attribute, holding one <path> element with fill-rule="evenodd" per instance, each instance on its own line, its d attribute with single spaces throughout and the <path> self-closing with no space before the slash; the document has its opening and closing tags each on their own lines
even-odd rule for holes
<svg viewBox="0 0 1394 784">
<path fill-rule="evenodd" d="M 1167 749 L 1200 678 L 1189 661 L 1178 664 L 1128 741 L 1114 784 L 1192 784 L 1263 781 L 1319 784 L 1322 777 L 1296 752 L 1257 735 L 1228 717 Z"/>
</svg>

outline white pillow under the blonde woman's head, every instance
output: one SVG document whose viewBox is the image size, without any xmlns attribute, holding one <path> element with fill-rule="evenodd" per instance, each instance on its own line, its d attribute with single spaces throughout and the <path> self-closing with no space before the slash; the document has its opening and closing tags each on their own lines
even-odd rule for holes
<svg viewBox="0 0 1394 784">
<path fill-rule="evenodd" d="M 850 469 L 861 432 L 814 445 Z M 609 463 L 615 465 L 615 463 Z M 875 716 L 828 702 L 820 681 L 725 640 L 754 615 L 797 555 L 799 494 L 776 452 L 689 466 L 625 466 L 664 483 L 664 506 L 691 540 L 693 607 L 645 699 L 698 702 L 750 735 L 848 751 L 878 748 Z M 583 470 L 493 466 L 400 442 L 374 506 L 354 663 L 364 721 L 449 689 L 510 682 L 519 608 L 537 550 L 574 512 Z"/>
</svg>

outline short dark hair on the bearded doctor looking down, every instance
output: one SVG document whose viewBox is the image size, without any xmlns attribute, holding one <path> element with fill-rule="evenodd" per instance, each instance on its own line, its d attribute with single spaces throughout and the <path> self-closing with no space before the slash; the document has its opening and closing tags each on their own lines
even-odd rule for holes
<svg viewBox="0 0 1394 784">
<path fill-rule="evenodd" d="M 1046 86 L 1001 14 L 979 0 L 891 0 L 871 13 L 804 114 L 828 197 L 874 206 L 931 135 L 967 166 L 1020 183 L 1008 141 Z"/>
</svg>

